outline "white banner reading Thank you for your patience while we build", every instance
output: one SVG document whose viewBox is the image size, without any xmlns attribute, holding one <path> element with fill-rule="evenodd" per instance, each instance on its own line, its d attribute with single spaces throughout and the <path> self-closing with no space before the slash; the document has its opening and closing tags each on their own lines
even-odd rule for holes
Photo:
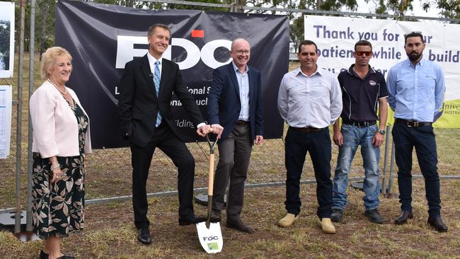
<svg viewBox="0 0 460 259">
<path fill-rule="evenodd" d="M 460 126 L 460 25 L 436 21 L 305 16 L 304 28 L 305 39 L 318 45 L 318 66 L 338 75 L 355 62 L 352 56 L 355 43 L 369 40 L 374 52 L 370 64 L 385 77 L 394 64 L 407 59 L 404 35 L 420 31 L 426 42 L 423 57 L 440 64 L 446 78 L 444 114 L 440 119 L 444 123 L 438 127 Z"/>
</svg>

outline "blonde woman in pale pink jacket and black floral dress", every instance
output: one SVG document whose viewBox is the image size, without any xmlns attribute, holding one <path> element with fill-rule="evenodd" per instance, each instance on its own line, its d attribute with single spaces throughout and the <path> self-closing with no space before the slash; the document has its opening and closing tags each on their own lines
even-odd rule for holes
<svg viewBox="0 0 460 259">
<path fill-rule="evenodd" d="M 43 259 L 69 259 L 60 238 L 84 226 L 84 159 L 91 153 L 89 119 L 79 98 L 65 84 L 72 57 L 62 47 L 42 55 L 46 81 L 30 97 L 33 125 L 33 226 L 44 239 Z"/>
</svg>

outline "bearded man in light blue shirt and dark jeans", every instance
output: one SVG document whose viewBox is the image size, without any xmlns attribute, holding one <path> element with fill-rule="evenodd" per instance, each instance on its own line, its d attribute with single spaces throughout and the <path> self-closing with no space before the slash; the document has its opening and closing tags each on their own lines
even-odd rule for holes
<svg viewBox="0 0 460 259">
<path fill-rule="evenodd" d="M 423 59 L 423 35 L 412 32 L 405 35 L 404 50 L 408 59 L 391 67 L 386 85 L 388 103 L 394 110 L 393 142 L 398 166 L 399 202 L 401 215 L 396 224 L 405 224 L 413 218 L 412 206 L 412 151 L 415 146 L 420 171 L 425 178 L 428 202 L 428 224 L 439 232 L 447 226 L 441 219 L 439 175 L 437 173 L 436 139 L 432 122 L 441 115 L 444 100 L 444 74 L 435 62 Z"/>
</svg>

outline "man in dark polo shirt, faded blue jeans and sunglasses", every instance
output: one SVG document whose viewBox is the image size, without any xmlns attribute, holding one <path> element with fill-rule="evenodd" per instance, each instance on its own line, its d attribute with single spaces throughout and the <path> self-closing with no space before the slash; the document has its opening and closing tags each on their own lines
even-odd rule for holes
<svg viewBox="0 0 460 259">
<path fill-rule="evenodd" d="M 379 146 L 384 142 L 386 115 L 386 90 L 384 75 L 372 69 L 372 45 L 367 40 L 355 44 L 355 64 L 340 72 L 338 81 L 342 88 L 342 127 L 340 119 L 334 123 L 333 140 L 339 146 L 337 167 L 333 181 L 333 213 L 331 220 L 342 221 L 347 205 L 347 182 L 350 166 L 358 146 L 361 146 L 364 167 L 364 215 L 381 224 L 379 214 Z M 377 116 L 379 108 L 379 116 Z M 377 126 L 376 120 L 379 120 Z"/>
</svg>

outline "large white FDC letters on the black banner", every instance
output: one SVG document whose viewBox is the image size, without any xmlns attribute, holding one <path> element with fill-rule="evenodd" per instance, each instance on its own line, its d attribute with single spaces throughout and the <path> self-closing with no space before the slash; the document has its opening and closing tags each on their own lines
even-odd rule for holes
<svg viewBox="0 0 460 259">
<path fill-rule="evenodd" d="M 146 47 L 136 48 L 137 45 L 146 45 L 148 47 L 147 38 L 122 35 L 117 37 L 117 62 L 115 64 L 117 69 L 125 68 L 126 62 L 130 62 L 134 57 L 144 56 Z M 183 61 L 176 62 L 180 70 L 195 67 L 195 65 L 200 62 L 200 59 L 207 67 L 212 69 L 216 69 L 217 67 L 231 62 L 231 58 L 227 59 L 225 62 L 219 62 L 214 58 L 214 51 L 217 50 L 217 48 L 225 47 L 227 50 L 230 50 L 230 40 L 212 40 L 207 42 L 200 50 L 198 46 L 190 40 L 171 38 L 171 45 L 169 45 L 166 52 L 163 53 L 163 58 L 171 60 L 171 48 L 173 46 L 183 47 L 187 53 L 187 57 Z"/>
</svg>

